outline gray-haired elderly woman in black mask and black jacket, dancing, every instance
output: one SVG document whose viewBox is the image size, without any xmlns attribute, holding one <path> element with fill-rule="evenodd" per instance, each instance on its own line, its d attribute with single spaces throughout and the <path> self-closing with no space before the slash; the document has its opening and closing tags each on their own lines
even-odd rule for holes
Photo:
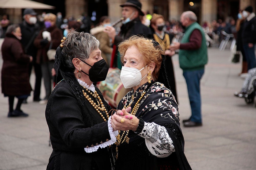
<svg viewBox="0 0 256 170">
<path fill-rule="evenodd" d="M 111 107 L 93 85 L 108 73 L 100 43 L 91 34 L 76 31 L 61 42 L 54 69 L 62 80 L 45 111 L 53 148 L 47 169 L 111 169 L 107 146 L 116 141 L 118 131 L 113 132 L 110 124 Z"/>
</svg>

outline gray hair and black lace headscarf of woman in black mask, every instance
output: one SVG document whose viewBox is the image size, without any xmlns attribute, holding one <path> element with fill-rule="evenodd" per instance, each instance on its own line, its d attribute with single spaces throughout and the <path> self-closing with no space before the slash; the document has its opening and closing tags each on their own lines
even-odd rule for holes
<svg viewBox="0 0 256 170">
<path fill-rule="evenodd" d="M 73 38 L 74 41 L 69 41 L 69 38 Z M 89 58 L 91 51 L 97 48 L 99 48 L 99 41 L 91 34 L 72 31 L 67 35 L 66 41 L 63 41 L 56 50 L 54 69 L 57 80 L 60 76 L 63 78 L 80 105 L 83 105 L 85 100 L 81 86 L 74 76 L 75 67 L 72 64 L 72 59 L 81 58 L 86 60 Z"/>
</svg>

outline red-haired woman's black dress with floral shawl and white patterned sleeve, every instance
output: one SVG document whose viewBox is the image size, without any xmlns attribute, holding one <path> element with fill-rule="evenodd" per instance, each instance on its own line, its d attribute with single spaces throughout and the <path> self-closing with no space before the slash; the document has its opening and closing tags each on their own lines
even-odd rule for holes
<svg viewBox="0 0 256 170">
<path fill-rule="evenodd" d="M 137 130 L 141 128 L 141 131 L 130 130 L 126 137 L 130 138 L 129 143 L 122 143 L 127 133 L 124 132 L 121 137 L 123 132 L 120 132 L 122 139 L 116 143 L 118 157 L 115 170 L 191 169 L 184 155 L 178 105 L 172 92 L 162 83 L 146 83 L 135 93 L 133 90 L 127 93 L 120 101 L 118 109 L 123 109 L 131 103 L 133 110 L 138 100 L 139 107 L 135 116 L 140 119 Z"/>
</svg>

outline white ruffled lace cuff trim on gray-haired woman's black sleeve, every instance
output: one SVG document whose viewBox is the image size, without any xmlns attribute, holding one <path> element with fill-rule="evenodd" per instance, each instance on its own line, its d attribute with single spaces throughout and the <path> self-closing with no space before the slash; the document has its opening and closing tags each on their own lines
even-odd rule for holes
<svg viewBox="0 0 256 170">
<path fill-rule="evenodd" d="M 109 135 L 110 135 L 110 140 L 106 141 L 104 143 L 101 143 L 100 145 L 97 146 L 93 146 L 93 147 L 89 147 L 89 148 L 84 148 L 84 151 L 86 151 L 87 153 L 91 153 L 91 152 L 95 152 L 100 148 L 105 148 L 109 145 L 112 145 L 116 142 L 116 136 L 118 135 L 118 130 L 113 131 L 113 128 L 111 127 L 111 116 L 109 117 L 108 120 L 108 129 L 109 129 Z"/>
</svg>

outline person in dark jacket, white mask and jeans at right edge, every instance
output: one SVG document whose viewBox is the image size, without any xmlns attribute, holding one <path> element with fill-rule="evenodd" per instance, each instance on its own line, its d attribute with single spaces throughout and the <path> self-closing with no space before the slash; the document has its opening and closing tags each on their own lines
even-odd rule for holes
<svg viewBox="0 0 256 170">
<path fill-rule="evenodd" d="M 246 18 L 242 30 L 243 48 L 248 63 L 247 69 L 250 70 L 256 67 L 255 59 L 255 43 L 256 43 L 256 16 L 252 6 L 246 7 L 242 14 Z"/>
</svg>

